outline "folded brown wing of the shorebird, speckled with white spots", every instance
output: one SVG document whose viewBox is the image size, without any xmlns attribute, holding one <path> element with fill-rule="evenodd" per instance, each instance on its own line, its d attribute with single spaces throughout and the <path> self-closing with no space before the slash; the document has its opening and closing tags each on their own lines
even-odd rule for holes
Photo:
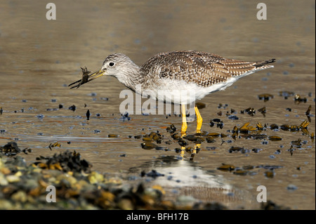
<svg viewBox="0 0 316 224">
<path fill-rule="evenodd" d="M 173 51 L 155 55 L 145 62 L 143 69 L 147 74 L 158 75 L 161 79 L 178 79 L 199 86 L 211 86 L 256 70 L 256 65 L 259 63 L 226 59 L 212 53 Z"/>
</svg>

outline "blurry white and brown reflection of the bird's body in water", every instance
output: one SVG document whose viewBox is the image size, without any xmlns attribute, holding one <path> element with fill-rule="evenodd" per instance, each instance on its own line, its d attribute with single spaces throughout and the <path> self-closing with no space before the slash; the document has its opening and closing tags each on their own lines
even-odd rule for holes
<svg viewBox="0 0 316 224">
<path fill-rule="evenodd" d="M 152 169 L 159 175 L 150 176 Z M 187 195 L 189 202 L 220 202 L 229 208 L 246 206 L 254 208 L 258 202 L 247 190 L 230 184 L 223 175 L 216 171 L 207 171 L 186 160 L 174 157 L 158 157 L 152 161 L 132 167 L 130 173 L 146 173 L 143 178 L 150 186 L 161 186 L 166 192 L 165 200 L 174 201 L 179 196 Z M 185 199 L 185 198 L 183 198 Z"/>
</svg>

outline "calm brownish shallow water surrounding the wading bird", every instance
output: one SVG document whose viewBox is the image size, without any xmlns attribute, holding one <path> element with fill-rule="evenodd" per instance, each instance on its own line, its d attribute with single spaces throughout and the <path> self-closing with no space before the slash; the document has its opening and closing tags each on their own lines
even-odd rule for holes
<svg viewBox="0 0 316 224">
<path fill-rule="evenodd" d="M 34 162 L 39 155 L 76 150 L 94 169 L 129 176 L 131 183 L 146 179 L 140 177 L 141 171 L 155 169 L 164 176 L 147 178 L 147 184 L 162 185 L 166 197 L 186 194 L 234 209 L 258 209 L 256 189 L 265 185 L 268 199 L 277 204 L 315 209 L 315 141 L 302 131 L 263 131 L 267 136 L 281 137 L 281 141 L 234 140 L 228 136 L 223 142 L 216 138 L 215 143 L 202 143 L 193 161 L 190 154 L 185 154 L 182 161 L 175 152 L 178 143 L 166 132 L 171 124 L 180 129 L 180 117 L 130 114 L 130 120 L 121 120 L 119 105 L 124 99 L 119 93 L 125 87 L 112 77 L 78 89 L 67 87 L 81 77 L 80 67 L 99 70 L 104 58 L 113 52 L 129 55 L 138 65 L 156 53 L 186 49 L 239 60 L 276 58 L 273 69 L 240 79 L 225 91 L 200 100 L 206 104 L 200 110 L 202 131 L 232 135 L 228 131 L 246 122 L 251 126 L 257 122 L 299 125 L 308 119 L 305 112 L 312 105 L 308 131 L 315 133 L 314 1 L 265 1 L 268 20 L 256 19 L 258 10 L 250 1 L 54 3 L 54 21 L 46 20 L 44 2 L 0 3 L 0 145 L 15 140 L 20 148 L 32 148 L 31 153 L 20 154 L 27 162 Z M 293 95 L 286 100 L 279 91 L 294 92 L 307 102 L 296 104 Z M 262 93 L 274 98 L 259 100 Z M 218 108 L 220 103 L 223 107 Z M 76 105 L 75 111 L 68 110 L 72 105 Z M 264 106 L 265 117 L 258 112 Z M 257 110 L 254 117 L 240 113 L 248 107 Z M 225 116 L 231 108 L 236 110 L 233 115 L 238 120 Z M 91 112 L 89 120 L 87 110 Z M 209 126 L 215 118 L 224 122 L 223 129 Z M 195 122 L 190 122 L 187 132 L 194 133 L 195 128 Z M 161 145 L 169 151 L 143 150 L 143 141 L 133 138 L 152 131 L 164 135 Z M 109 134 L 118 137 L 109 138 Z M 298 139 L 302 145 L 294 147 L 291 155 L 291 141 Z M 171 145 L 166 140 L 171 140 Z M 50 150 L 48 145 L 55 142 L 61 147 Z M 230 153 L 232 146 L 249 152 Z M 262 150 L 255 153 L 253 148 Z M 275 176 L 268 178 L 268 169 L 262 167 L 240 176 L 233 171 L 219 171 L 222 164 L 282 168 L 275 169 Z M 292 185 L 296 186 L 294 190 Z"/>
</svg>

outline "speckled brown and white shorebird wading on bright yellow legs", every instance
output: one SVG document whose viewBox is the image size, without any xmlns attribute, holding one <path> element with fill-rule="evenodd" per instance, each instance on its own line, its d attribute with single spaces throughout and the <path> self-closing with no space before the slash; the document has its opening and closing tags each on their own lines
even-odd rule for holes
<svg viewBox="0 0 316 224">
<path fill-rule="evenodd" d="M 272 62 L 275 62 L 275 59 L 246 62 L 201 51 L 172 51 L 154 55 L 139 67 L 126 55 L 113 53 L 105 58 L 103 66 L 98 72 L 89 74 L 88 78 L 75 81 L 69 86 L 78 88 L 88 81 L 103 75 L 110 75 L 136 93 L 155 95 L 157 100 L 180 104 L 183 117 L 181 136 L 185 136 L 187 103 L 202 99 L 209 93 L 224 90 L 237 79 L 248 74 L 273 67 L 273 65 L 268 65 Z M 137 85 L 142 86 L 141 92 L 138 92 Z M 183 94 L 177 96 L 173 94 L 175 90 L 185 90 L 189 93 L 191 91 L 194 94 L 184 97 Z M 159 91 L 169 92 L 173 94 L 173 98 L 168 98 L 166 95 L 164 98 L 159 98 Z M 197 133 L 199 133 L 203 120 L 197 106 L 195 106 L 195 114 L 197 116 Z"/>
</svg>

